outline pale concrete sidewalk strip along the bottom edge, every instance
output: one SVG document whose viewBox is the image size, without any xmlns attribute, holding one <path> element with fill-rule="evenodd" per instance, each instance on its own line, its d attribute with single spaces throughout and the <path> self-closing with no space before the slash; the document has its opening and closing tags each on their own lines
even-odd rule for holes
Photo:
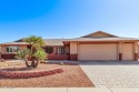
<svg viewBox="0 0 139 92">
<path fill-rule="evenodd" d="M 107 88 L 43 88 L 43 89 L 0 89 L 0 92 L 139 92 L 139 89 L 107 89 Z"/>
</svg>

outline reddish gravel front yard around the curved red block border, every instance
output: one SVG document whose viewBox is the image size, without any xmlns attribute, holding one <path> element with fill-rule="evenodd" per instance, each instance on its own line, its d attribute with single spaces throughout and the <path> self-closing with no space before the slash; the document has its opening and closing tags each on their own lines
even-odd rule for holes
<svg viewBox="0 0 139 92">
<path fill-rule="evenodd" d="M 0 69 L 10 71 L 39 71 L 62 68 L 63 72 L 29 79 L 0 76 L 0 88 L 92 88 L 93 84 L 78 64 L 40 63 L 38 69 L 27 70 L 24 62 L 0 62 Z"/>
</svg>

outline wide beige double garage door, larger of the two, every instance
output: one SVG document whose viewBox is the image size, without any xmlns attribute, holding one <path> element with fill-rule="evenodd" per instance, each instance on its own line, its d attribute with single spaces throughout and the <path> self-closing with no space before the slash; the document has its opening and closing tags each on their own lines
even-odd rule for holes
<svg viewBox="0 0 139 92">
<path fill-rule="evenodd" d="M 78 60 L 117 60 L 117 44 L 80 44 Z"/>
</svg>

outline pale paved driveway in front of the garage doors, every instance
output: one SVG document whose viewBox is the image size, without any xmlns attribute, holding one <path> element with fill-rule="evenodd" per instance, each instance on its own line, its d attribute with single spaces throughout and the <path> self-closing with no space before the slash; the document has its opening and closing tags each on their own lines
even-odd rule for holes
<svg viewBox="0 0 139 92">
<path fill-rule="evenodd" d="M 80 67 L 97 88 L 139 88 L 139 62 L 81 61 Z"/>
</svg>

